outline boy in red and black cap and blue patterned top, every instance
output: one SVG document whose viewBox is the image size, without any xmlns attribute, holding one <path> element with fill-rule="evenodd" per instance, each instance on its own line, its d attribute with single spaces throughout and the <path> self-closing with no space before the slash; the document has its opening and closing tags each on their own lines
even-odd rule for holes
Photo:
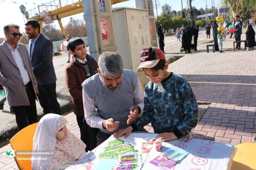
<svg viewBox="0 0 256 170">
<path fill-rule="evenodd" d="M 169 64 L 157 47 L 143 49 L 140 65 L 150 80 L 145 88 L 143 115 L 125 129 L 114 134 L 126 138 L 133 130 L 143 129 L 151 122 L 156 138 L 175 140 L 191 132 L 197 125 L 198 105 L 188 82 L 180 75 L 167 71 Z"/>
</svg>

